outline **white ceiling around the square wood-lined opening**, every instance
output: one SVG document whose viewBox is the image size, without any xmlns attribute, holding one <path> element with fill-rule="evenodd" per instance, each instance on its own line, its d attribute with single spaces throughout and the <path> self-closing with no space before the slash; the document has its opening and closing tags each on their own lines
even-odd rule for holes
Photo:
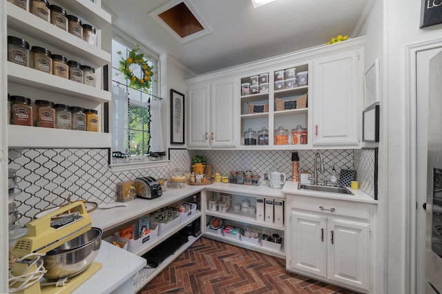
<svg viewBox="0 0 442 294">
<path fill-rule="evenodd" d="M 168 52 L 195 74 L 325 45 L 338 34 L 358 36 L 374 0 L 184 0 L 210 34 L 180 43 L 150 12 L 179 0 L 102 0 L 113 25 L 156 54 Z M 130 4 L 129 4 L 130 3 Z"/>
</svg>

